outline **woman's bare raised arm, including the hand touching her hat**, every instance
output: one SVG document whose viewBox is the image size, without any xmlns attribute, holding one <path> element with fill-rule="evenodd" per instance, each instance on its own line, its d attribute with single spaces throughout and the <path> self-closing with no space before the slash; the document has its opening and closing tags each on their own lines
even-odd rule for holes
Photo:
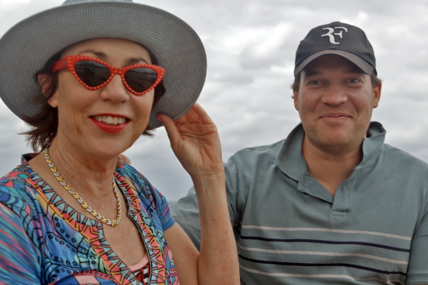
<svg viewBox="0 0 428 285">
<path fill-rule="evenodd" d="M 177 269 L 187 273 L 183 284 L 237 285 L 238 253 L 227 207 L 217 128 L 198 104 L 175 122 L 166 115 L 159 115 L 159 118 L 166 128 L 172 150 L 192 177 L 198 198 L 201 220 L 199 253 L 179 226 L 165 230 L 165 239 L 174 256 L 183 257 L 175 260 Z M 221 274 L 213 279 L 207 272 Z"/>
</svg>

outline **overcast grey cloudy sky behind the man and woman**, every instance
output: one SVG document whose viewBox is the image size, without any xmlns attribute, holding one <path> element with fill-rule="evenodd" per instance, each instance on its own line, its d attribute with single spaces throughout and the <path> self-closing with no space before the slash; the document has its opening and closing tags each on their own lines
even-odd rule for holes
<svg viewBox="0 0 428 285">
<path fill-rule="evenodd" d="M 134 0 L 182 18 L 200 35 L 208 73 L 198 102 L 219 130 L 226 161 L 237 150 L 271 144 L 300 121 L 291 89 L 296 48 L 318 25 L 342 21 L 362 28 L 383 80 L 372 120 L 386 142 L 428 162 L 428 0 Z M 29 15 L 63 0 L 0 0 L 0 35 Z M 9 68 L 2 66 L 0 68 Z M 0 174 L 30 149 L 25 124 L 0 101 Z M 126 151 L 168 200 L 192 185 L 163 128 Z"/>
</svg>

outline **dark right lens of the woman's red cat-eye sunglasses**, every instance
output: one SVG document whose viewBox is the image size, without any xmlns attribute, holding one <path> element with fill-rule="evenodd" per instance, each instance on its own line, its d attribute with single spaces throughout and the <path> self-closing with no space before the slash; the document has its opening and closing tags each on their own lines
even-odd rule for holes
<svg viewBox="0 0 428 285">
<path fill-rule="evenodd" d="M 125 72 L 125 80 L 135 92 L 143 92 L 156 82 L 157 73 L 153 69 L 138 67 Z"/>
</svg>

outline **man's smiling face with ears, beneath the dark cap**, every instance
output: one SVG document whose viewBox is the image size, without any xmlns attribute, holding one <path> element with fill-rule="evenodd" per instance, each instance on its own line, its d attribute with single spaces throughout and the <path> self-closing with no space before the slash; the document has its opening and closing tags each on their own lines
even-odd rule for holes
<svg viewBox="0 0 428 285">
<path fill-rule="evenodd" d="M 293 90 L 306 137 L 325 152 L 351 152 L 365 137 L 381 85 L 344 57 L 325 55 L 301 72 L 299 90 Z"/>
</svg>

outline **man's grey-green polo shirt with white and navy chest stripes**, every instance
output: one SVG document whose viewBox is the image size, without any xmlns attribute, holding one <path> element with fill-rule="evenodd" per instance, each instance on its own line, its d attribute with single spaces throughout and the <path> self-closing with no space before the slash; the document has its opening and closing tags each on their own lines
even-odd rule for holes
<svg viewBox="0 0 428 285">
<path fill-rule="evenodd" d="M 428 164 L 384 144 L 372 122 L 332 196 L 306 171 L 303 137 L 298 125 L 225 165 L 241 284 L 428 284 Z M 199 246 L 194 189 L 171 214 Z"/>
</svg>

